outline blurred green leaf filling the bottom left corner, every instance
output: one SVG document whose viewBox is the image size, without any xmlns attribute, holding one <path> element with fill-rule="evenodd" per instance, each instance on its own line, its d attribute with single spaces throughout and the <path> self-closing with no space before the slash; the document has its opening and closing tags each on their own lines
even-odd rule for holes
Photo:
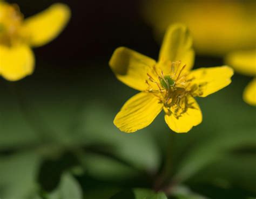
<svg viewBox="0 0 256 199">
<path fill-rule="evenodd" d="M 36 153 L 18 153 L 0 157 L 0 193 L 3 199 L 26 199 L 37 190 L 36 175 L 41 157 Z"/>
</svg>

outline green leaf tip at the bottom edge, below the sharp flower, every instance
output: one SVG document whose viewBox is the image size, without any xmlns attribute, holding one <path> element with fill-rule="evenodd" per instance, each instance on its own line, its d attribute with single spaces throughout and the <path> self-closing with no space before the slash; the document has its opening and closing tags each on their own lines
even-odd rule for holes
<svg viewBox="0 0 256 199">
<path fill-rule="evenodd" d="M 131 189 L 121 191 L 120 193 L 112 196 L 110 199 L 167 199 L 166 195 L 162 192 L 154 193 L 149 189 Z"/>
</svg>

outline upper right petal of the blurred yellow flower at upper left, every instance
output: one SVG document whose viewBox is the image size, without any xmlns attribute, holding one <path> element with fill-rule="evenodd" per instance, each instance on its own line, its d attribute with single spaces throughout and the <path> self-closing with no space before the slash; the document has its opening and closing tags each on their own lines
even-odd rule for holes
<svg viewBox="0 0 256 199">
<path fill-rule="evenodd" d="M 42 46 L 55 39 L 70 18 L 70 9 L 65 4 L 53 4 L 45 11 L 29 17 L 24 22 L 24 31 L 32 46 Z"/>
</svg>

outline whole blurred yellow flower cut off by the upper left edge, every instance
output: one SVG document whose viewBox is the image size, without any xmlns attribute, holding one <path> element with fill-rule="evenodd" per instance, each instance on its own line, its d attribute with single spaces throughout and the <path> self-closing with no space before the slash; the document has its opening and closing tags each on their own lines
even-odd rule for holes
<svg viewBox="0 0 256 199">
<path fill-rule="evenodd" d="M 33 73 L 35 58 L 30 47 L 53 40 L 70 18 L 64 4 L 53 4 L 36 16 L 23 19 L 16 4 L 0 2 L 0 75 L 17 81 Z"/>
</svg>

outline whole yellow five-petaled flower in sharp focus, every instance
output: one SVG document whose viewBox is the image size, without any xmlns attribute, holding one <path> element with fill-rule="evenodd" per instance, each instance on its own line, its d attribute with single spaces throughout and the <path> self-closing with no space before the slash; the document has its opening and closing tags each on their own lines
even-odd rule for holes
<svg viewBox="0 0 256 199">
<path fill-rule="evenodd" d="M 161 110 L 175 132 L 188 132 L 200 124 L 202 115 L 194 97 L 226 87 L 233 70 L 223 66 L 190 71 L 193 62 L 192 38 L 181 24 L 167 30 L 158 62 L 129 48 L 117 48 L 110 67 L 118 80 L 141 92 L 124 104 L 114 124 L 121 131 L 135 132 L 150 125 Z"/>
</svg>

